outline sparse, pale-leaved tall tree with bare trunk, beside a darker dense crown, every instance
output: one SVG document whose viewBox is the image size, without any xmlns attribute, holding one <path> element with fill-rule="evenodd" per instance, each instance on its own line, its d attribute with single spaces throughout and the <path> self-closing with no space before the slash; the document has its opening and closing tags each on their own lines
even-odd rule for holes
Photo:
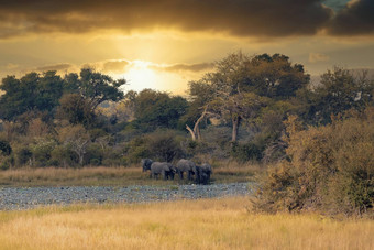
<svg viewBox="0 0 374 250">
<path fill-rule="evenodd" d="M 230 54 L 216 63 L 213 73 L 206 74 L 200 81 L 190 85 L 190 95 L 193 99 L 198 100 L 196 102 L 206 101 L 209 112 L 231 123 L 232 142 L 238 140 L 241 121 L 253 119 L 265 104 L 264 98 L 250 93 L 251 89 L 248 88 L 250 63 L 251 57 L 241 52 Z M 206 97 L 201 97 L 196 89 L 204 89 Z"/>
</svg>

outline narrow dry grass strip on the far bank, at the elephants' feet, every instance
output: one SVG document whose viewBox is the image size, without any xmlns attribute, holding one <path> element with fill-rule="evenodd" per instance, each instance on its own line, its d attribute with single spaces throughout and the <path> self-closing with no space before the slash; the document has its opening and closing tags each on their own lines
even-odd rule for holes
<svg viewBox="0 0 374 250">
<path fill-rule="evenodd" d="M 213 170 L 212 182 L 248 182 L 258 171 L 255 165 L 228 165 Z M 127 186 L 186 183 L 176 176 L 174 182 L 150 178 L 141 167 L 82 167 L 82 169 L 19 169 L 0 171 L 0 186 Z"/>
</svg>

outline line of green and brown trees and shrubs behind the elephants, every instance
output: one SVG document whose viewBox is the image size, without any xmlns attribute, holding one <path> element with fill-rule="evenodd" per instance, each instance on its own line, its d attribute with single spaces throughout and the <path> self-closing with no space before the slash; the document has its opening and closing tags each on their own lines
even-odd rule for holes
<svg viewBox="0 0 374 250">
<path fill-rule="evenodd" d="M 7 76 L 0 89 L 1 169 L 130 165 L 142 157 L 277 162 L 287 121 L 304 130 L 373 106 L 374 81 L 336 67 L 310 81 L 282 54 L 232 53 L 188 84 L 187 96 L 125 91 L 125 79 L 82 68 Z"/>
</svg>

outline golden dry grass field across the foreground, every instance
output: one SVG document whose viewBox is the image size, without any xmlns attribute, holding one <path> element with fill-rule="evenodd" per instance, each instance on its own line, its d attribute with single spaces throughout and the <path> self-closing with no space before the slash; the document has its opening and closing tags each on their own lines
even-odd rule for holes
<svg viewBox="0 0 374 250">
<path fill-rule="evenodd" d="M 261 215 L 244 197 L 0 211 L 0 249 L 374 249 L 374 221 Z"/>
</svg>

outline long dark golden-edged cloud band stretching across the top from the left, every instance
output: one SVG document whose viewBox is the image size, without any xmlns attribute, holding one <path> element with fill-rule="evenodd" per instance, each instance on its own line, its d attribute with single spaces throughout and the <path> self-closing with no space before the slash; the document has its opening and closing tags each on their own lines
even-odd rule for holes
<svg viewBox="0 0 374 250">
<path fill-rule="evenodd" d="M 331 15 L 321 0 L 0 0 L 0 37 L 158 28 L 235 36 L 312 35 Z"/>
</svg>

